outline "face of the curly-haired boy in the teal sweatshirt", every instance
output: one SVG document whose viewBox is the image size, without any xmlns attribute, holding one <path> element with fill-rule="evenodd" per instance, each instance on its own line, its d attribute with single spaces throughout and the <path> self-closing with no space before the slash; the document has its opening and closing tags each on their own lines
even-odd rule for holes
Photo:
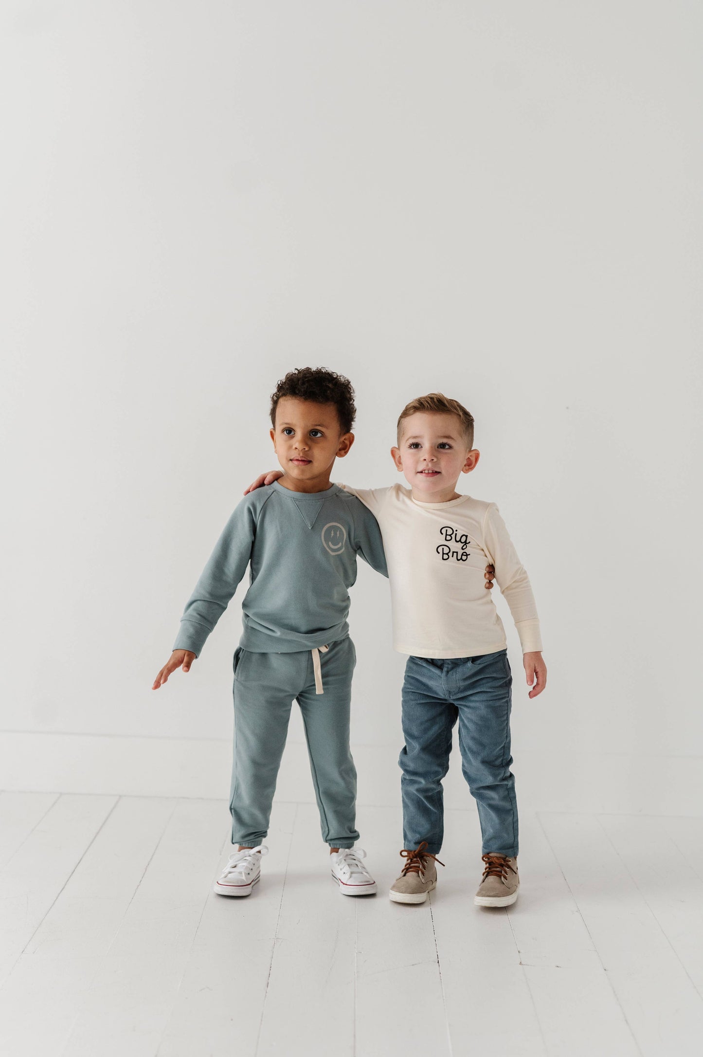
<svg viewBox="0 0 703 1057">
<path fill-rule="evenodd" d="M 304 485 L 329 481 L 335 459 L 344 459 L 353 433 L 343 433 L 334 404 L 281 396 L 271 439 L 283 472 Z"/>
</svg>

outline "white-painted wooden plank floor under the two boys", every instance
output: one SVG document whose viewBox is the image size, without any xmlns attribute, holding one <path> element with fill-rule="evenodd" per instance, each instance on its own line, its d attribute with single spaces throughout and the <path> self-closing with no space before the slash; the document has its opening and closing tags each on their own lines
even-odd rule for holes
<svg viewBox="0 0 703 1057">
<path fill-rule="evenodd" d="M 380 883 L 330 878 L 315 808 L 277 803 L 246 900 L 211 883 L 216 800 L 0 794 L 8 1057 L 687 1057 L 703 1038 L 703 820 L 522 813 L 520 898 L 473 905 L 474 810 L 439 887 L 391 904 L 401 818 L 359 809 Z"/>
</svg>

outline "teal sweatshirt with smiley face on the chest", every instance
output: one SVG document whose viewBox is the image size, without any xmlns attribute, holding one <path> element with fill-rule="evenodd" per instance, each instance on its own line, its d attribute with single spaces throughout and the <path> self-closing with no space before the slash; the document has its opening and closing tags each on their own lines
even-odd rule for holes
<svg viewBox="0 0 703 1057">
<path fill-rule="evenodd" d="M 292 653 L 345 638 L 357 554 L 388 576 L 378 522 L 355 496 L 336 484 L 312 494 L 278 482 L 257 488 L 227 521 L 173 649 L 200 654 L 249 562 L 240 646 Z"/>
</svg>

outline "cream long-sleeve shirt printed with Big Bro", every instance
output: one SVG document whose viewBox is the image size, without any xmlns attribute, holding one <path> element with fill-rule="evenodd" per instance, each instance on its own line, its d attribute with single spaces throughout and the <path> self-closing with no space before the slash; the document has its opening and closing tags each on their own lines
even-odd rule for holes
<svg viewBox="0 0 703 1057">
<path fill-rule="evenodd" d="M 522 652 L 541 650 L 528 574 L 495 503 L 460 496 L 421 503 L 409 488 L 351 488 L 375 516 L 384 539 L 393 647 L 421 657 L 463 657 L 505 648 L 505 630 L 484 572 L 510 606 Z"/>
</svg>

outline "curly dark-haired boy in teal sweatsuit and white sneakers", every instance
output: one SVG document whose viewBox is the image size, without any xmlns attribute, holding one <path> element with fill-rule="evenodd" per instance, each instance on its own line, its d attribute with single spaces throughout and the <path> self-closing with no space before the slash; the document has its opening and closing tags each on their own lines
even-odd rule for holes
<svg viewBox="0 0 703 1057">
<path fill-rule="evenodd" d="M 302 713 L 322 840 L 345 895 L 375 882 L 354 849 L 356 771 L 349 746 L 349 588 L 356 556 L 388 575 L 378 523 L 330 482 L 354 442 L 354 390 L 322 368 L 291 371 L 271 400 L 271 438 L 282 474 L 251 493 L 227 521 L 190 596 L 170 660 L 153 689 L 198 657 L 249 565 L 243 633 L 234 657 L 235 744 L 229 810 L 235 846 L 215 883 L 220 895 L 249 895 L 260 877 L 291 705 Z"/>
</svg>

